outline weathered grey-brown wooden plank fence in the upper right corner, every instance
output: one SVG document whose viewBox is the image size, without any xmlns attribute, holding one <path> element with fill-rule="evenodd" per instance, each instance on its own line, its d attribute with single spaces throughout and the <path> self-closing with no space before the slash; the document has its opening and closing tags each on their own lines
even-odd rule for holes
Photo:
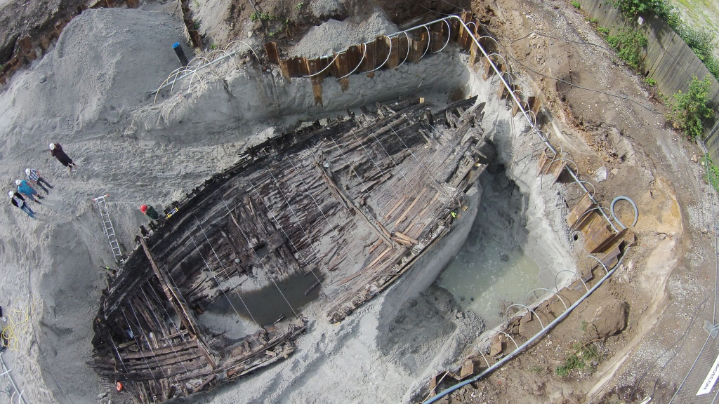
<svg viewBox="0 0 719 404">
<path fill-rule="evenodd" d="M 609 29 L 610 35 L 616 35 L 623 27 L 638 29 L 646 35 L 647 45 L 641 55 L 639 69 L 647 78 L 656 81 L 656 88 L 672 100 L 674 93 L 686 92 L 692 76 L 702 79 L 709 75 L 710 106 L 714 110 L 714 119 L 705 122 L 705 142 L 709 155 L 719 161 L 719 131 L 712 130 L 719 121 L 719 83 L 709 73 L 694 51 L 687 46 L 674 29 L 654 14 L 644 16 L 640 25 L 637 21 L 628 21 L 618 9 L 606 0 L 579 0 L 581 10 L 589 17 L 596 18 L 597 24 Z"/>
</svg>

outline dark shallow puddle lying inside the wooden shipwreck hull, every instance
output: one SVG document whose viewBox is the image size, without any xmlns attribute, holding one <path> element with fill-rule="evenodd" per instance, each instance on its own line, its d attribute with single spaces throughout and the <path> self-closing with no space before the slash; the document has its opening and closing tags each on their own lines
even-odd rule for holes
<svg viewBox="0 0 719 404">
<path fill-rule="evenodd" d="M 244 292 L 237 288 L 237 291 L 227 292 L 226 297 L 219 295 L 198 316 L 198 321 L 213 331 L 237 338 L 257 331 L 255 322 L 260 326 L 271 326 L 280 318 L 294 318 L 295 313 L 299 314 L 319 297 L 319 285 L 309 290 L 317 282 L 312 274 L 290 275 L 275 282 L 259 290 Z"/>
</svg>

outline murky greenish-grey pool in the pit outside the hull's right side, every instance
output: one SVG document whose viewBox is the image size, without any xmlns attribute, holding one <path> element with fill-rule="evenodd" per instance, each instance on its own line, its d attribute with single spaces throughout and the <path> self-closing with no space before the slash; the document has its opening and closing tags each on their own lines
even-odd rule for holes
<svg viewBox="0 0 719 404">
<path fill-rule="evenodd" d="M 527 198 L 503 171 L 485 171 L 480 183 L 482 201 L 470 236 L 437 283 L 491 326 L 508 305 L 526 303 L 527 293 L 541 287 L 540 268 L 523 251 Z"/>
</svg>

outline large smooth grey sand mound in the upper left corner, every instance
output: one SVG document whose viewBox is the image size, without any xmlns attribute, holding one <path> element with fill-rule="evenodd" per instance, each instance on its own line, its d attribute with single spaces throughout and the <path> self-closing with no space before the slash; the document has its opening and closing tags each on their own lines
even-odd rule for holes
<svg viewBox="0 0 719 404">
<path fill-rule="evenodd" d="M 116 123 L 170 73 L 168 66 L 178 64 L 171 45 L 184 37 L 181 23 L 169 14 L 88 10 L 22 76 L 24 86 L 15 86 L 23 90 L 16 98 L 19 119 L 55 130 Z"/>
</svg>

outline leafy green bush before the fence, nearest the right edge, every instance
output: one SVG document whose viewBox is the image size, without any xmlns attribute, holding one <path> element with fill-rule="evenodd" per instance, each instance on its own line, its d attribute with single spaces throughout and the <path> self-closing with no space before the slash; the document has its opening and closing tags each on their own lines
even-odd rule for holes
<svg viewBox="0 0 719 404">
<path fill-rule="evenodd" d="M 701 81 L 694 76 L 687 93 L 682 93 L 681 90 L 674 93 L 672 111 L 669 111 L 667 119 L 674 128 L 684 132 L 690 139 L 701 137 L 704 132 L 702 119 L 714 116 L 714 112 L 707 106 L 710 86 L 708 75 Z"/>
</svg>

